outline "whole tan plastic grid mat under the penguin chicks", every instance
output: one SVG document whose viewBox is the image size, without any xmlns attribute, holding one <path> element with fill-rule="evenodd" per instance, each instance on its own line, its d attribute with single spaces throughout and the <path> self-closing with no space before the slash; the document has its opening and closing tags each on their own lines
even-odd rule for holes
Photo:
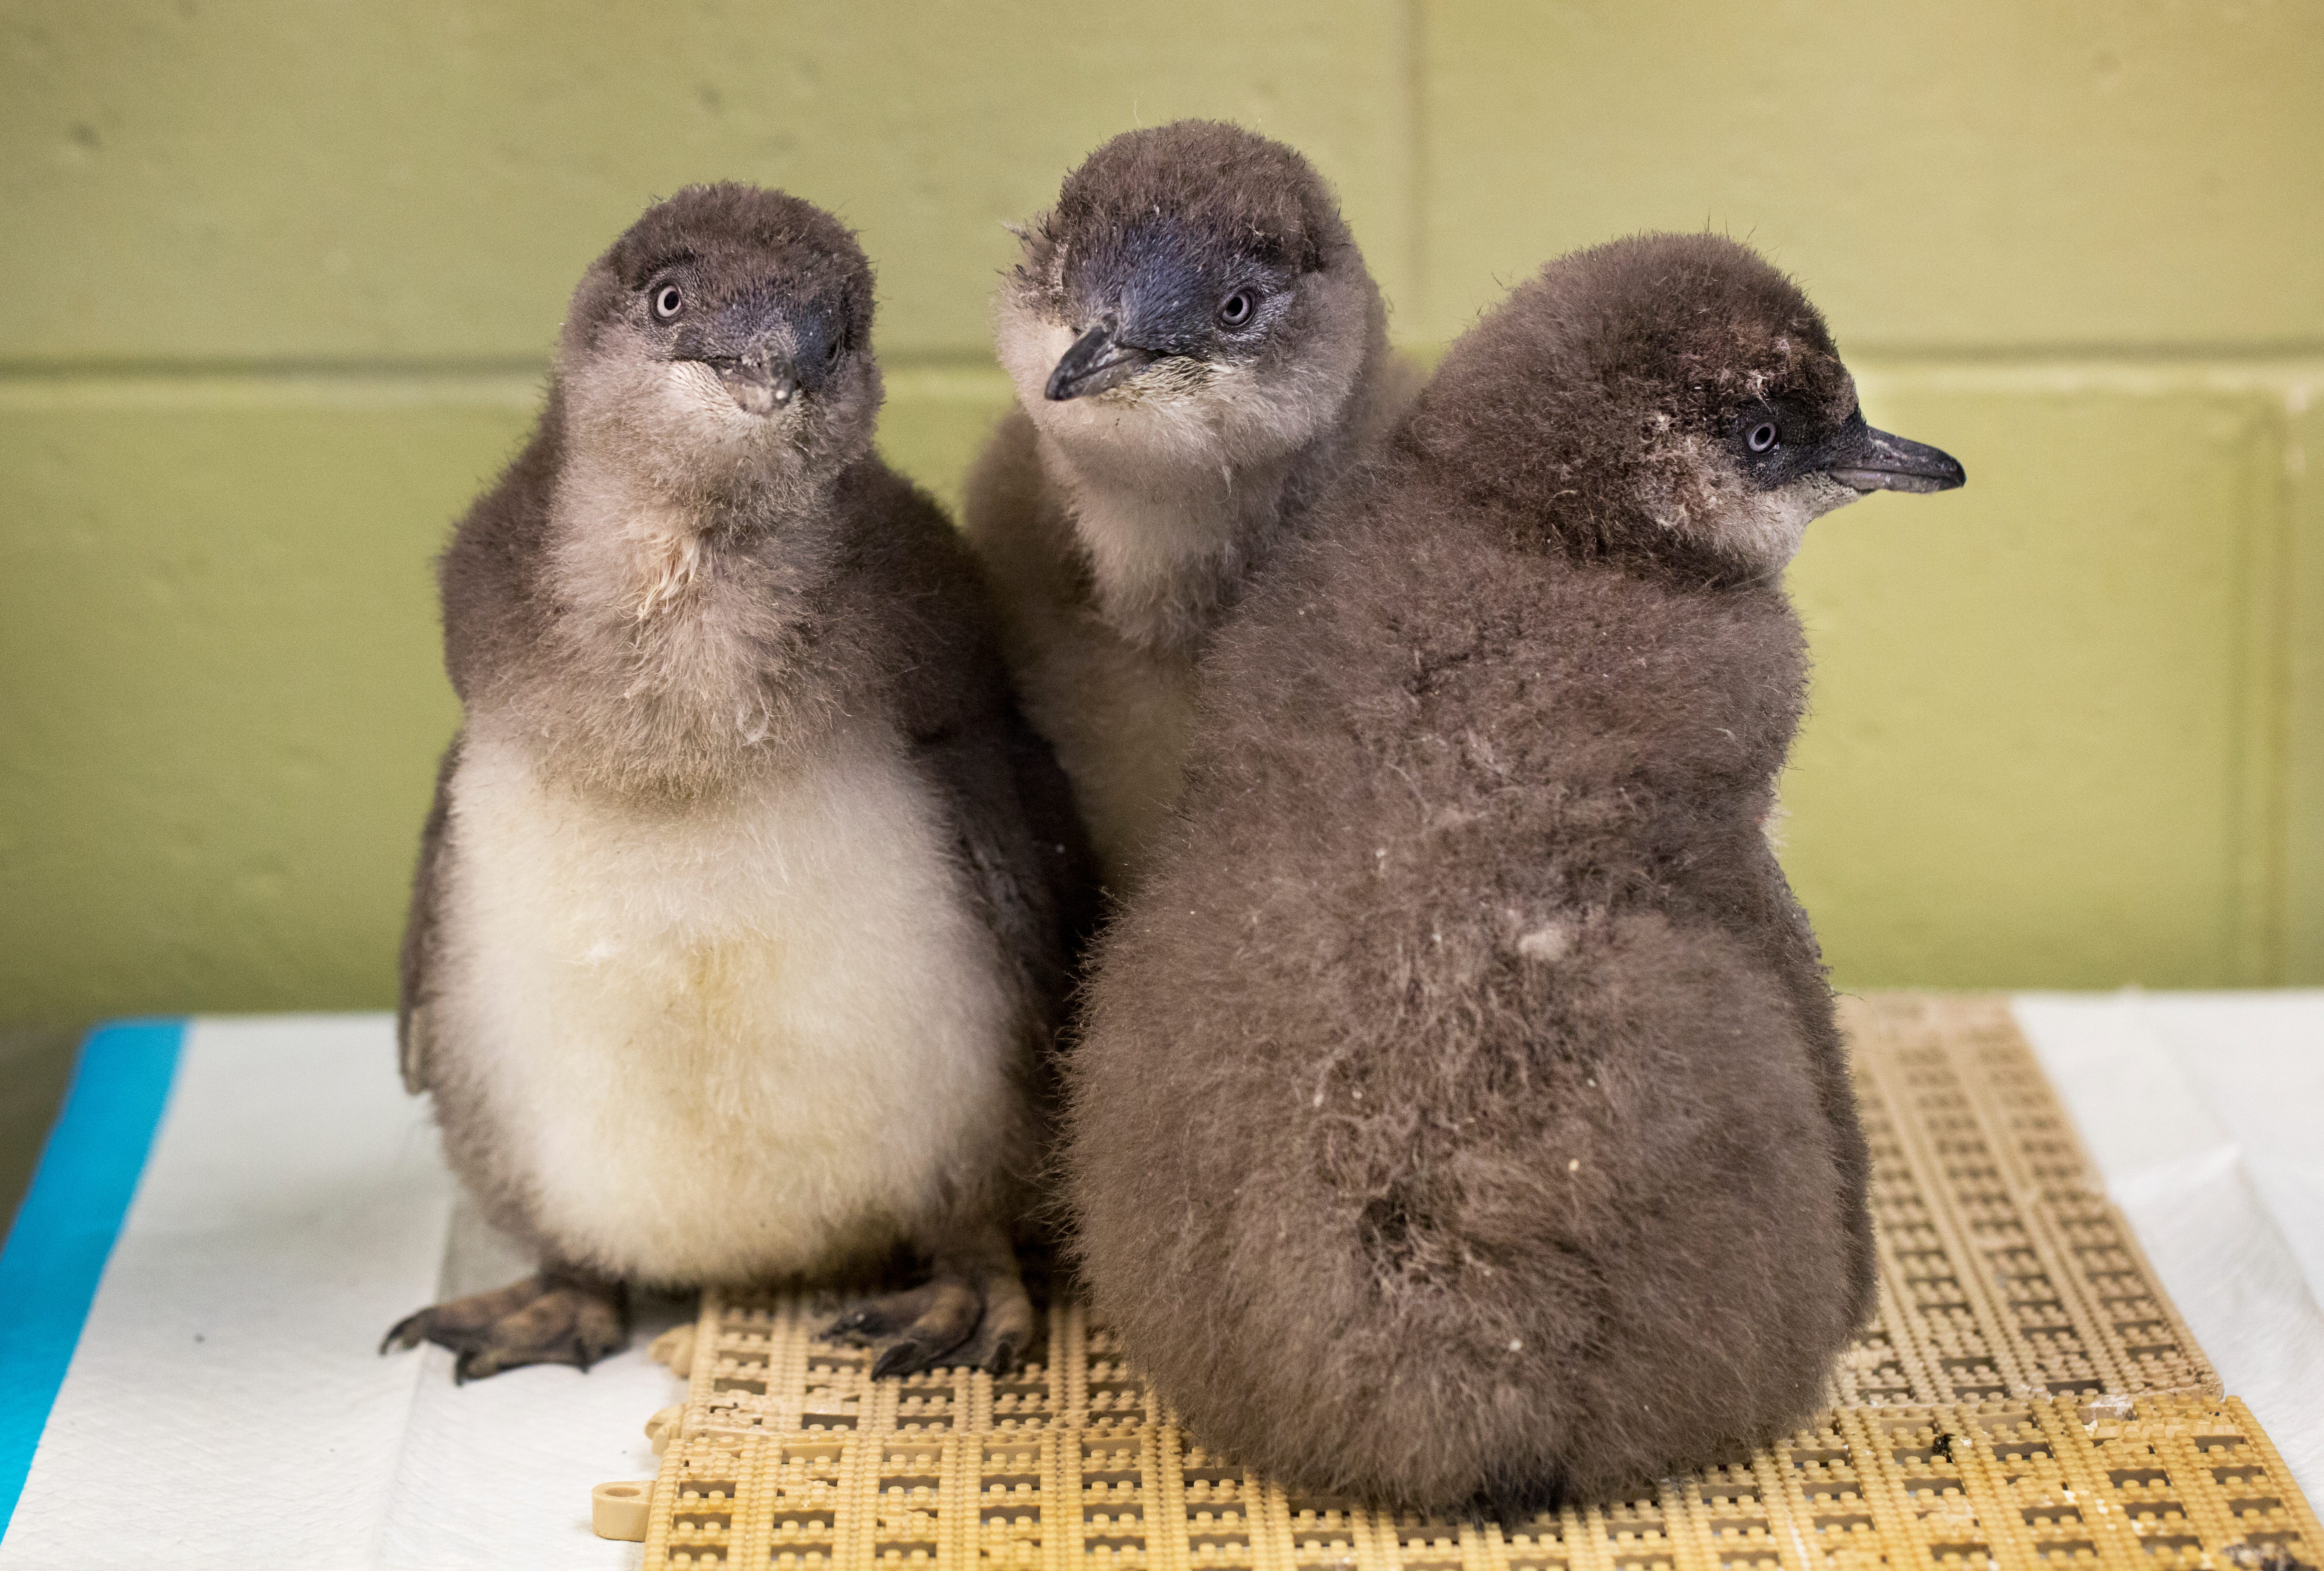
<svg viewBox="0 0 2324 1571">
<path fill-rule="evenodd" d="M 1081 1304 L 1011 1376 L 869 1378 L 823 1294 L 709 1292 L 658 1348 L 665 1566 L 1715 1571 L 2319 1564 L 2324 1531 L 2082 1155 L 2003 999 L 1843 1006 L 1880 1311 L 1813 1429 L 1527 1522 L 1285 1497 L 1195 1448 Z"/>
</svg>

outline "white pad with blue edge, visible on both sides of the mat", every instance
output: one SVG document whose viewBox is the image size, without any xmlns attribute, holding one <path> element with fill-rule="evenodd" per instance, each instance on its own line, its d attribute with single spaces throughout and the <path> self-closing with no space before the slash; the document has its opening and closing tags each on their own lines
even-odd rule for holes
<svg viewBox="0 0 2324 1571">
<path fill-rule="evenodd" d="M 2229 1392 L 2324 1497 L 2324 992 L 2017 1013 Z M 46 1315 L 0 1339 L 0 1511 L 23 1471 L 0 1569 L 634 1566 L 639 1545 L 590 1534 L 588 1490 L 653 1476 L 639 1425 L 681 1387 L 644 1348 L 683 1306 L 641 1304 L 632 1348 L 586 1376 L 453 1387 L 439 1348 L 374 1355 L 404 1313 L 528 1269 L 458 1199 L 390 1023 L 144 1030 L 116 1043 L 112 1125 L 84 1071 L 0 1257 L 0 1329 L 9 1287 Z M 107 1153 L 156 1111 L 139 1176 Z"/>
</svg>

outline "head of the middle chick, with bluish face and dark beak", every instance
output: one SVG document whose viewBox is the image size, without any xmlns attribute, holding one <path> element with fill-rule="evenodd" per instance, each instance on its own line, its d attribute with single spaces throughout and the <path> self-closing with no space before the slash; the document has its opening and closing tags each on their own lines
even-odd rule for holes
<svg viewBox="0 0 2324 1571">
<path fill-rule="evenodd" d="M 1053 439 L 1204 467 L 1334 425 L 1380 293 L 1306 158 L 1239 125 L 1113 137 L 1025 232 L 995 337 Z"/>
</svg>

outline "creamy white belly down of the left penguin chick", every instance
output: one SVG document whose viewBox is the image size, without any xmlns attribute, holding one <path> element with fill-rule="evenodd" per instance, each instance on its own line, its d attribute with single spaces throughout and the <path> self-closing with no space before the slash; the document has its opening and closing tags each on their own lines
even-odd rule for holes
<svg viewBox="0 0 2324 1571">
<path fill-rule="evenodd" d="M 811 1269 L 981 1188 L 1009 1146 L 992 937 L 890 734 L 646 811 L 472 732 L 451 846 L 439 1095 L 481 1099 L 576 1260 Z"/>
</svg>

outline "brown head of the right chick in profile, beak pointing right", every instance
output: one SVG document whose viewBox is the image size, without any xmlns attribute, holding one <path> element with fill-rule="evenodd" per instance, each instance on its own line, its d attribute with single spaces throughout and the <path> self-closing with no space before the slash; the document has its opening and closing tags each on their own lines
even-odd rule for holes
<svg viewBox="0 0 2324 1571">
<path fill-rule="evenodd" d="M 1713 579 L 1780 569 L 1871 490 L 1966 479 L 1866 425 L 1808 297 L 1717 235 L 1550 263 L 1452 346 L 1404 439 L 1527 532 Z"/>
</svg>

